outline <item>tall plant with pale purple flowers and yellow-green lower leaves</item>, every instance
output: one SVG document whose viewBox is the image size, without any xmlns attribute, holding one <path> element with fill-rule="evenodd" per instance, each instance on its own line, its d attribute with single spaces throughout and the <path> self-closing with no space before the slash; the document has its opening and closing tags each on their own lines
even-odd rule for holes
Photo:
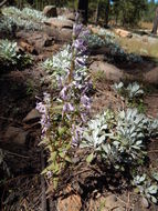
<svg viewBox="0 0 158 211">
<path fill-rule="evenodd" d="M 49 149 L 49 165 L 43 171 L 57 185 L 62 170 L 71 163 L 71 148 L 76 148 L 82 139 L 83 124 L 91 109 L 88 89 L 92 86 L 87 76 L 87 42 L 82 39 L 83 26 L 73 27 L 73 42 L 63 51 L 44 62 L 50 76 L 56 82 L 60 93 L 57 100 L 44 93 L 43 102 L 36 104 L 42 114 L 42 141 Z M 52 68 L 52 70 L 51 70 Z M 55 104 L 55 105 L 54 105 Z"/>
</svg>

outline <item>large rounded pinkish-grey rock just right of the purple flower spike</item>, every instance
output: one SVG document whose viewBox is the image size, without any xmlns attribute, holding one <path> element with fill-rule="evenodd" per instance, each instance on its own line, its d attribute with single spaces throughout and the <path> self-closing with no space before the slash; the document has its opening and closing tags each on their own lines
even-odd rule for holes
<svg viewBox="0 0 158 211">
<path fill-rule="evenodd" d="M 109 81 L 119 82 L 124 79 L 124 72 L 120 69 L 104 61 L 94 61 L 89 70 L 92 73 L 96 73 L 97 71 L 103 72 L 103 74 L 105 73 L 106 80 Z"/>
</svg>

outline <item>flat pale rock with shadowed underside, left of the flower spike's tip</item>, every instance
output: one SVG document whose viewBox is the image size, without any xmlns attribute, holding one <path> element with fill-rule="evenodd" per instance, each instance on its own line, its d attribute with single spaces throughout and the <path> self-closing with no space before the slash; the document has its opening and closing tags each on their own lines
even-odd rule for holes
<svg viewBox="0 0 158 211">
<path fill-rule="evenodd" d="M 57 18 L 50 18 L 44 23 L 48 26 L 56 27 L 59 29 L 61 29 L 61 28 L 73 29 L 73 21 L 72 20 L 60 20 Z"/>
</svg>

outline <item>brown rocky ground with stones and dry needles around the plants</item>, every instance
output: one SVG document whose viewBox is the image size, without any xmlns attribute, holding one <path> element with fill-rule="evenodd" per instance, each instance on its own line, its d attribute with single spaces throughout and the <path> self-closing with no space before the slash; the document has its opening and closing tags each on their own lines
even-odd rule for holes
<svg viewBox="0 0 158 211">
<path fill-rule="evenodd" d="M 50 24 L 53 24 L 50 28 Z M 45 167 L 40 142 L 40 115 L 34 110 L 36 97 L 48 89 L 42 79 L 45 74 L 40 62 L 57 52 L 71 37 L 73 17 L 69 21 L 51 20 L 43 32 L 19 31 L 15 39 L 19 48 L 32 53 L 31 68 L 8 71 L 0 76 L 0 148 L 4 157 L 6 172 L 0 169 L 0 210 L 3 211 L 156 211 L 157 205 L 141 201 L 134 194 L 124 178 L 116 175 L 109 181 L 110 173 L 103 174 L 101 169 L 88 167 L 83 160 L 74 161 L 73 171 L 63 174 L 64 182 L 57 195 L 45 197 L 46 184 L 41 170 Z M 49 27 L 48 27 L 49 26 Z M 53 30 L 54 29 L 54 30 Z M 119 32 L 120 33 L 120 32 Z M 130 36 L 127 34 L 130 39 Z M 31 38 L 31 39 L 30 39 Z M 105 108 L 117 110 L 123 101 L 112 89 L 114 82 L 140 81 L 148 89 L 145 97 L 146 112 L 158 114 L 158 67 L 148 58 L 133 66 L 109 62 L 106 48 L 95 49 L 91 54 L 89 71 L 95 81 L 92 113 Z M 149 158 L 157 167 L 158 141 L 150 143 Z M 83 158 L 86 152 L 78 151 Z M 66 174 L 67 173 L 67 174 Z M 122 185 L 120 185 L 122 183 Z M 124 185 L 123 185 L 124 184 Z M 49 190 L 51 191 L 51 190 Z M 46 209 L 48 208 L 48 209 Z"/>
</svg>

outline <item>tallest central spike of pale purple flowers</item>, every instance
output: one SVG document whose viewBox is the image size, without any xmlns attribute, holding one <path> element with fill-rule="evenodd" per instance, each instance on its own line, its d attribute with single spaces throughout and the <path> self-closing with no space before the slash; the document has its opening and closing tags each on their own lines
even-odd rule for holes
<svg viewBox="0 0 158 211">
<path fill-rule="evenodd" d="M 72 61 L 67 79 L 60 93 L 63 102 L 63 114 L 72 121 L 72 143 L 78 144 L 82 137 L 82 125 L 87 120 L 91 109 L 88 89 L 91 86 L 86 72 L 87 42 L 82 38 L 87 31 L 77 22 L 73 27 Z"/>
</svg>

